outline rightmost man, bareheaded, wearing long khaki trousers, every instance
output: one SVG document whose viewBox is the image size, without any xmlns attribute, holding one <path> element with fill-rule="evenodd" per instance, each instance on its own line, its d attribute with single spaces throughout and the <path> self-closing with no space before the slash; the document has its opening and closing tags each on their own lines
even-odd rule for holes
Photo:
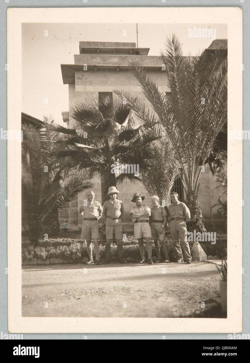
<svg viewBox="0 0 250 363">
<path fill-rule="evenodd" d="M 172 204 L 169 205 L 169 229 L 173 245 L 177 252 L 177 262 L 183 262 L 181 246 L 184 250 L 184 257 L 187 264 L 191 264 L 191 253 L 187 242 L 186 222 L 190 220 L 190 211 L 186 204 L 178 200 L 178 193 L 171 193 Z"/>
</svg>

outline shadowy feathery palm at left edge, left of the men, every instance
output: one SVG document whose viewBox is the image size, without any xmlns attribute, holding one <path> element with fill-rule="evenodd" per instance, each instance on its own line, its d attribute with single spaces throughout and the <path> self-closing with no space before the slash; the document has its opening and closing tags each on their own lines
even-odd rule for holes
<svg viewBox="0 0 250 363">
<path fill-rule="evenodd" d="M 41 234 L 58 232 L 58 209 L 92 187 L 72 160 L 56 156 L 59 138 L 51 130 L 53 120 L 45 118 L 43 125 L 22 125 L 22 222 L 34 243 Z"/>
</svg>

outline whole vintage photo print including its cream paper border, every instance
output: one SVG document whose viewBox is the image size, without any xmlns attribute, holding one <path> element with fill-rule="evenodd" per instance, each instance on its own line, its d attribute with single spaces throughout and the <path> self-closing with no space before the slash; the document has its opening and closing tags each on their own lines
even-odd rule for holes
<svg viewBox="0 0 250 363">
<path fill-rule="evenodd" d="M 241 329 L 241 16 L 9 10 L 9 331 Z"/>
</svg>

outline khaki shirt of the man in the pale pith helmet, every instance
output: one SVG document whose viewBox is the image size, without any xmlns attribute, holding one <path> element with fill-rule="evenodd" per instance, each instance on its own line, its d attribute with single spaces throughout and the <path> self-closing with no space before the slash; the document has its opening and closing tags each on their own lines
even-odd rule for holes
<svg viewBox="0 0 250 363">
<path fill-rule="evenodd" d="M 124 206 L 121 200 L 106 200 L 103 205 L 102 216 L 106 219 L 107 226 L 121 225 L 121 218 L 124 216 Z M 121 217 L 120 219 L 110 219 L 108 217 Z"/>
</svg>

